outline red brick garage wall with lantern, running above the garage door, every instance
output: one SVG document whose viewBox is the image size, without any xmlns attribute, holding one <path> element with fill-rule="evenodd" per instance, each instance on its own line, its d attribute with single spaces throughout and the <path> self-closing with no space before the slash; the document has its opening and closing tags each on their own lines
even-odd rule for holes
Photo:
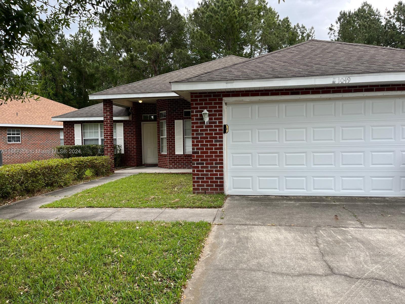
<svg viewBox="0 0 405 304">
<path fill-rule="evenodd" d="M 191 93 L 194 193 L 224 192 L 222 98 L 405 91 L 405 84 Z M 209 112 L 205 125 L 201 112 Z"/>
</svg>

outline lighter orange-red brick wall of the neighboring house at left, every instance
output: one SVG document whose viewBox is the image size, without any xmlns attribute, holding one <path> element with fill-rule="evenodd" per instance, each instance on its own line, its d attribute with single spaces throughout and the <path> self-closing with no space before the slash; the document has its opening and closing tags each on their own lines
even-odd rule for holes
<svg viewBox="0 0 405 304">
<path fill-rule="evenodd" d="M 60 145 L 61 128 L 13 127 L 21 130 L 21 143 L 7 143 L 7 128 L 0 127 L 0 150 L 3 150 L 4 165 L 55 157 L 52 150 Z"/>
</svg>

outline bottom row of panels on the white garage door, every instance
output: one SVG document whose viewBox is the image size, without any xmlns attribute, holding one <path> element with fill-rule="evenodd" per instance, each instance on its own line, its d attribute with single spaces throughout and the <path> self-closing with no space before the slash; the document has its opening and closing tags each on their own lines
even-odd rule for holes
<svg viewBox="0 0 405 304">
<path fill-rule="evenodd" d="M 403 173 L 232 173 L 228 191 L 249 195 L 347 195 L 401 196 L 405 193 Z"/>
</svg>

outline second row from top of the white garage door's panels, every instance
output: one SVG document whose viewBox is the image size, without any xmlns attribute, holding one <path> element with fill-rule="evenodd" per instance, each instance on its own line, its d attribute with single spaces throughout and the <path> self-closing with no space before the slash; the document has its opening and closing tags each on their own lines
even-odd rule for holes
<svg viewBox="0 0 405 304">
<path fill-rule="evenodd" d="M 230 125 L 228 146 L 351 146 L 405 144 L 401 122 L 329 122 L 305 124 Z M 242 144 L 242 145 L 241 145 Z"/>
</svg>

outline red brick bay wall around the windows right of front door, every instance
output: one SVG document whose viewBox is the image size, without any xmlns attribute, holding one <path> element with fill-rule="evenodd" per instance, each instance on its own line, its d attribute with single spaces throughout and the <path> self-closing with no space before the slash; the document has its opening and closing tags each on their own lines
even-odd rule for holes
<svg viewBox="0 0 405 304">
<path fill-rule="evenodd" d="M 157 101 L 158 112 L 158 163 L 159 167 L 171 169 L 190 169 L 192 154 L 175 153 L 175 120 L 190 120 L 190 117 L 184 117 L 184 110 L 190 110 L 191 105 L 182 98 L 163 99 Z M 166 111 L 166 138 L 167 154 L 160 153 L 160 118 L 159 112 Z M 184 124 L 183 124 L 184 126 Z M 184 136 L 183 136 L 184 140 Z M 184 143 L 183 143 L 184 149 Z M 183 150 L 184 151 L 184 150 Z"/>
</svg>

